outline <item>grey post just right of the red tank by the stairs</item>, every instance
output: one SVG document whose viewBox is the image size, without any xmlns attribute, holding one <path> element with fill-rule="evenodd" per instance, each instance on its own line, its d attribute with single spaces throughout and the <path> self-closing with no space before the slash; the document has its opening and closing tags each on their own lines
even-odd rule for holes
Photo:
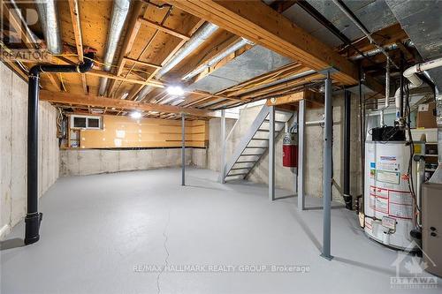
<svg viewBox="0 0 442 294">
<path fill-rule="evenodd" d="M 301 100 L 298 109 L 298 209 L 305 209 L 304 195 L 304 147 L 305 147 L 305 100 Z"/>
</svg>

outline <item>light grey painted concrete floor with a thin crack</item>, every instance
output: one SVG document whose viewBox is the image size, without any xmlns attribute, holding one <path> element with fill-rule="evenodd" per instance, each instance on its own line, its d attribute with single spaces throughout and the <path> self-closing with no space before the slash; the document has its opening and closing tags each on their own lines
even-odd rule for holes
<svg viewBox="0 0 442 294">
<path fill-rule="evenodd" d="M 320 210 L 270 202 L 264 185 L 220 185 L 210 170 L 179 184 L 179 169 L 58 179 L 41 200 L 41 240 L 9 248 L 22 242 L 21 222 L 3 243 L 1 293 L 415 293 L 391 290 L 398 253 L 365 237 L 354 213 L 332 209 L 329 261 Z M 186 265 L 193 272 L 171 272 Z"/>
</svg>

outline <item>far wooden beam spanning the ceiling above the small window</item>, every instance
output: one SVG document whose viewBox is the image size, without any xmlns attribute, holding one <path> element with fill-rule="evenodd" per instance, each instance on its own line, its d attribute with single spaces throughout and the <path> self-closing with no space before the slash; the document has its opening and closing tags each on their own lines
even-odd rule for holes
<svg viewBox="0 0 442 294">
<path fill-rule="evenodd" d="M 116 109 L 133 109 L 142 111 L 159 111 L 166 113 L 185 113 L 195 117 L 215 117 L 211 111 L 204 109 L 184 108 L 179 106 L 134 102 L 130 100 L 104 98 L 100 96 L 40 91 L 40 100 L 46 102 L 107 107 Z"/>
</svg>

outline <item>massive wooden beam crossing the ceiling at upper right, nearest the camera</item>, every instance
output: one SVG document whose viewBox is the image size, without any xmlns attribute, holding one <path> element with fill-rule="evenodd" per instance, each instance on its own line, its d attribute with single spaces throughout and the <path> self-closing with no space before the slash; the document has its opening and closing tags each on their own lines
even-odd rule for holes
<svg viewBox="0 0 442 294">
<path fill-rule="evenodd" d="M 233 34 L 293 58 L 317 72 L 334 67 L 339 72 L 332 74 L 332 78 L 342 84 L 354 85 L 358 82 L 358 70 L 353 63 L 260 1 L 168 2 Z"/>
</svg>

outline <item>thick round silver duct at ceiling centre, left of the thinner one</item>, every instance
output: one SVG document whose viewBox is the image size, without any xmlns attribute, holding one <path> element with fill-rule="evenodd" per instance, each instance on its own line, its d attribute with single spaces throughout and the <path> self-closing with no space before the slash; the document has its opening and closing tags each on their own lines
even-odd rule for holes
<svg viewBox="0 0 442 294">
<path fill-rule="evenodd" d="M 205 23 L 202 25 L 196 33 L 171 57 L 171 60 L 163 65 L 161 70 L 159 70 L 155 77 L 156 79 L 161 79 L 165 73 L 169 72 L 175 65 L 179 64 L 181 60 L 186 58 L 190 53 L 197 49 L 204 41 L 209 39 L 209 37 L 215 33 L 218 29 L 217 25 Z M 140 93 L 135 98 L 136 101 L 143 100 L 147 94 L 152 91 L 153 87 L 145 86 L 141 89 Z"/>
</svg>

